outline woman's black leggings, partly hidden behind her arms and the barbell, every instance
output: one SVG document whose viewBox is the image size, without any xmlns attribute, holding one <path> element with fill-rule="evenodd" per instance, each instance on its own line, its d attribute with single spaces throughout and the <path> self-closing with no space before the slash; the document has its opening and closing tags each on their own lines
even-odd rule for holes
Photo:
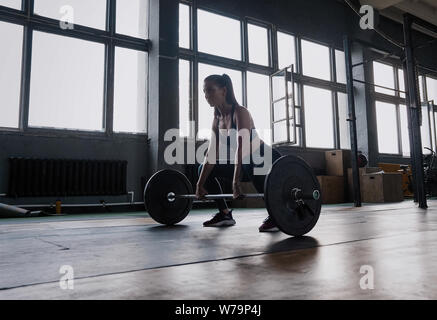
<svg viewBox="0 0 437 320">
<path fill-rule="evenodd" d="M 267 148 L 270 148 L 266 146 Z M 276 149 L 270 149 L 272 151 L 272 164 L 281 157 L 281 154 Z M 263 155 L 264 146 L 262 146 L 261 156 Z M 258 193 L 264 193 L 264 181 L 266 179 L 266 175 L 254 174 L 255 168 L 263 168 L 263 163 L 255 164 L 252 160 L 250 164 L 242 165 L 242 179 L 243 182 L 252 181 L 255 189 Z M 199 166 L 198 176 L 200 177 L 200 173 L 202 172 L 203 164 Z M 268 168 L 267 168 L 268 169 Z M 209 194 L 222 194 L 223 189 L 220 185 L 220 182 L 217 178 L 224 178 L 226 180 L 233 180 L 234 177 L 235 164 L 215 164 L 213 170 L 205 181 L 205 189 Z M 216 199 L 217 207 L 220 211 L 225 209 L 229 209 L 226 201 L 224 199 Z"/>
</svg>

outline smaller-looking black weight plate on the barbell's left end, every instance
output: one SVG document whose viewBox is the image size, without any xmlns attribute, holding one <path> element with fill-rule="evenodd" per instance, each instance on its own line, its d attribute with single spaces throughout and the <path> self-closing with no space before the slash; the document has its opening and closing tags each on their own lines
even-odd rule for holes
<svg viewBox="0 0 437 320">
<path fill-rule="evenodd" d="M 167 195 L 192 194 L 193 188 L 187 177 L 175 170 L 161 170 L 155 173 L 144 189 L 144 204 L 149 215 L 165 225 L 174 225 L 185 219 L 191 210 L 192 199 L 168 201 Z"/>
</svg>

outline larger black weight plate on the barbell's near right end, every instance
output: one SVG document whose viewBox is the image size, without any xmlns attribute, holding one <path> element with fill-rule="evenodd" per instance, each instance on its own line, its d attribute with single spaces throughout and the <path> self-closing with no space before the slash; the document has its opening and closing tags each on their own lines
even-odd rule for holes
<svg viewBox="0 0 437 320">
<path fill-rule="evenodd" d="M 267 211 L 278 228 L 292 236 L 302 236 L 316 225 L 322 208 L 318 200 L 303 200 L 304 205 L 292 199 L 291 191 L 299 188 L 304 194 L 320 191 L 317 177 L 301 158 L 292 155 L 279 158 L 266 177 L 264 197 Z"/>
</svg>

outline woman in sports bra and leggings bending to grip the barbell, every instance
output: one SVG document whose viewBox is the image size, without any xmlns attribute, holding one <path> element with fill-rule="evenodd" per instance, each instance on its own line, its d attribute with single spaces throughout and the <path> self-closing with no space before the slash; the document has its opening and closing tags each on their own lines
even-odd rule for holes
<svg viewBox="0 0 437 320">
<path fill-rule="evenodd" d="M 256 134 L 249 111 L 240 106 L 235 99 L 232 80 L 228 75 L 211 75 L 207 77 L 204 81 L 203 91 L 208 104 L 214 108 L 214 120 L 212 121 L 212 136 L 207 156 L 199 167 L 199 180 L 196 186 L 197 198 L 202 199 L 208 193 L 223 193 L 216 178 L 232 180 L 234 199 L 241 195 L 240 182 L 242 180 L 252 181 L 256 190 L 259 193 L 264 193 L 265 175 L 255 174 L 256 172 L 254 172 L 257 167 L 264 168 L 264 164 L 255 164 L 253 158 L 255 156 L 263 157 L 266 152 L 272 152 L 271 163 L 274 163 L 281 155 L 277 150 L 267 146 Z M 226 134 L 226 148 L 229 155 L 226 164 L 218 163 L 219 150 L 223 147 L 223 139 L 220 135 L 223 135 L 223 132 Z M 231 135 L 229 135 L 229 132 Z M 250 146 L 244 144 L 250 144 Z M 231 146 L 235 146 L 236 150 L 231 150 Z M 254 146 L 258 146 L 258 148 L 254 149 Z M 215 154 L 212 154 L 214 151 Z M 230 158 L 235 159 L 234 164 L 230 163 Z M 203 225 L 205 227 L 235 225 L 232 210 L 228 208 L 226 201 L 219 199 L 216 200 L 216 203 L 219 212 Z M 259 227 L 259 231 L 274 232 L 278 231 L 278 228 L 274 221 L 267 217 Z"/>
</svg>

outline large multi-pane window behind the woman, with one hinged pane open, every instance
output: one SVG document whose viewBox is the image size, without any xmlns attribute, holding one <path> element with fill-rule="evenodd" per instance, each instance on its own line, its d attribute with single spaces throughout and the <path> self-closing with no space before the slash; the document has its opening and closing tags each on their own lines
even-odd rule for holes
<svg viewBox="0 0 437 320">
<path fill-rule="evenodd" d="M 270 27 L 267 21 L 224 16 L 197 5 L 201 6 L 196 2 L 179 3 L 181 136 L 210 138 L 214 109 L 205 101 L 203 81 L 208 75 L 227 73 L 238 102 L 247 106 L 263 140 L 312 148 L 350 148 L 341 50 L 302 40 L 299 35 Z M 272 30 L 276 33 L 271 34 Z M 291 65 L 295 86 L 292 88 L 288 81 L 288 92 L 291 95 L 294 91 L 295 119 L 291 107 L 287 119 L 286 102 L 288 99 L 291 105 L 291 96 L 285 97 L 284 77 L 272 77 L 270 97 L 269 75 L 279 74 L 278 69 Z M 190 97 L 191 92 L 197 97 Z M 195 126 L 189 128 L 190 121 Z"/>
</svg>

